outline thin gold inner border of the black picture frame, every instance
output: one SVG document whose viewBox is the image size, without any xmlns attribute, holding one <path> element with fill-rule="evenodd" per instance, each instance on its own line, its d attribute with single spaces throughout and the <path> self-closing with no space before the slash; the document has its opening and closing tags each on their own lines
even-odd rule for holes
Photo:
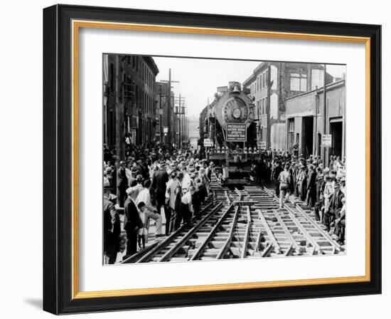
<svg viewBox="0 0 391 319">
<path fill-rule="evenodd" d="M 326 285 L 333 283 L 359 283 L 370 281 L 370 38 L 356 36 L 331 36 L 326 34 L 311 33 L 286 33 L 277 31 L 249 31 L 241 29 L 227 28 L 199 28 L 187 26 L 163 26 L 142 23 L 115 23 L 102 21 L 73 20 L 72 21 L 72 299 L 86 298 L 108 298 L 119 296 L 145 296 L 152 294 L 166 293 L 190 293 L 205 291 L 227 291 L 248 288 L 275 288 L 291 286 L 310 286 Z M 269 281 L 254 283 L 224 283 L 217 285 L 199 285 L 199 286 L 174 286 L 163 288 L 136 288 L 114 291 L 78 291 L 78 31 L 80 28 L 109 28 L 122 30 L 139 30 L 155 32 L 172 32 L 172 33 L 195 33 L 195 34 L 213 34 L 221 36 L 247 36 L 247 37 L 264 37 L 264 38 L 284 38 L 307 41 L 338 41 L 350 43 L 365 43 L 365 181 L 366 181 L 366 203 L 365 203 L 365 276 L 352 276 L 340 278 L 314 278 L 292 281 Z M 76 127 L 75 127 L 76 126 Z"/>
</svg>

